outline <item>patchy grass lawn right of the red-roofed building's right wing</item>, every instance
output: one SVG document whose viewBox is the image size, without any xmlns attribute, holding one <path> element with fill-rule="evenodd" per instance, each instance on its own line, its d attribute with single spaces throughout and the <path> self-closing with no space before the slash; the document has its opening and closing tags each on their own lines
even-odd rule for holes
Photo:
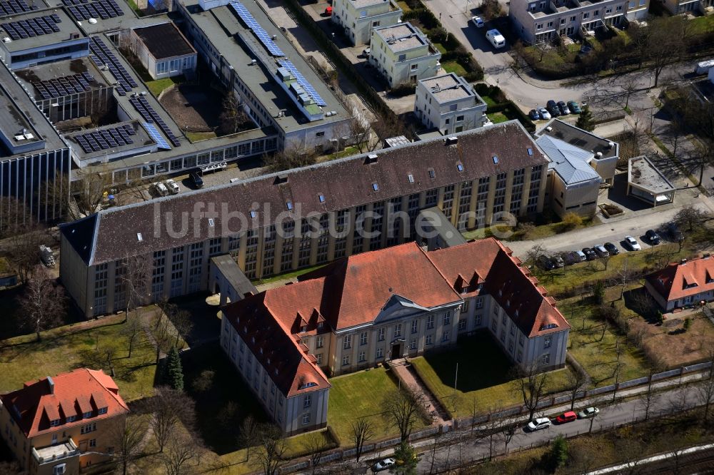
<svg viewBox="0 0 714 475">
<path fill-rule="evenodd" d="M 619 297 L 616 289 L 608 293 L 617 294 L 615 297 Z M 580 297 L 558 301 L 558 308 L 570 322 L 571 327 L 568 352 L 590 374 L 593 386 L 606 386 L 615 382 L 614 368 L 617 364 L 616 342 L 618 341 L 620 348 L 623 349 L 620 355 L 620 362 L 623 364 L 620 381 L 646 376 L 648 362 L 643 352 L 634 344 L 627 344 L 625 337 L 618 334 L 618 330 L 612 325 L 603 335 L 603 321 L 596 319 L 592 314 L 595 307 L 590 299 L 581 301 Z"/>
</svg>

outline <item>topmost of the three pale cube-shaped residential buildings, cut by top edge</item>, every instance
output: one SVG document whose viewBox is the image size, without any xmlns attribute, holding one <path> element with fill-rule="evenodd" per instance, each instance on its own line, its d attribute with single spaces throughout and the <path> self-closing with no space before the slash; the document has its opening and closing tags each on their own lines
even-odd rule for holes
<svg viewBox="0 0 714 475">
<path fill-rule="evenodd" d="M 372 29 L 401 22 L 402 10 L 393 0 L 334 0 L 332 21 L 345 29 L 355 46 L 368 44 Z"/>
</svg>

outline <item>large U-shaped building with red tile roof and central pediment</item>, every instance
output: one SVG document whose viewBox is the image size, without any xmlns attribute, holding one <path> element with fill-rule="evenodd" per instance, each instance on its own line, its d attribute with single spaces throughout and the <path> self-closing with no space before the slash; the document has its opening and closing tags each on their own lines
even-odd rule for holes
<svg viewBox="0 0 714 475">
<path fill-rule="evenodd" d="M 496 239 L 364 252 L 223 310 L 221 346 L 288 434 L 327 424 L 337 375 L 448 347 L 488 329 L 521 367 L 565 364 L 570 325 Z"/>
</svg>

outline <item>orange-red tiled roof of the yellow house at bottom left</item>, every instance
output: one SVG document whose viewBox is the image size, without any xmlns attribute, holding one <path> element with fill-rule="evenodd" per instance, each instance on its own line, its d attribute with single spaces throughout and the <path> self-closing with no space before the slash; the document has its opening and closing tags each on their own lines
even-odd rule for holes
<svg viewBox="0 0 714 475">
<path fill-rule="evenodd" d="M 27 437 L 129 412 L 129 407 L 119 396 L 114 379 L 104 372 L 75 369 L 73 372 L 58 374 L 51 380 L 54 391 L 50 389 L 49 378 L 45 377 L 26 382 L 22 389 L 0 395 L 3 404 Z M 91 399 L 96 404 L 92 405 Z M 100 401 L 104 406 L 98 405 Z M 92 411 L 93 417 L 66 422 L 69 416 L 81 417 L 81 414 L 77 414 L 79 407 L 82 412 Z M 106 414 L 97 413 L 101 407 L 106 407 Z M 59 426 L 50 427 L 50 421 L 56 419 L 61 421 Z"/>
</svg>

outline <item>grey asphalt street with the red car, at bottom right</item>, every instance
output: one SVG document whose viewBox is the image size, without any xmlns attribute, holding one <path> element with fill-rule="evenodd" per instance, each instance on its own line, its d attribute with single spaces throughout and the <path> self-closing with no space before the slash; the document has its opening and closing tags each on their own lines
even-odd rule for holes
<svg viewBox="0 0 714 475">
<path fill-rule="evenodd" d="M 672 391 L 660 393 L 653 397 L 649 414 L 654 417 L 660 413 L 673 412 L 683 407 L 694 407 L 697 405 L 697 400 L 696 390 L 693 387 L 673 389 Z M 575 409 L 577 410 L 578 407 Z M 609 407 L 601 407 L 600 414 L 598 417 L 595 417 L 593 421 L 593 431 L 611 427 L 613 424 L 630 422 L 633 418 L 639 420 L 644 419 L 645 411 L 645 406 L 640 400 L 631 400 Z M 531 433 L 523 429 L 523 427 L 526 426 L 526 422 L 527 421 L 523 421 L 521 427 L 516 431 L 511 443 L 508 444 L 508 451 L 548 443 L 548 441 L 552 440 L 557 434 L 563 434 L 565 436 L 583 434 L 590 428 L 590 419 L 578 419 L 567 424 L 553 425 L 549 429 L 542 429 Z M 497 440 L 498 442 L 496 442 Z M 494 449 L 494 454 L 503 454 L 504 444 L 501 436 L 494 436 Z M 436 449 L 435 456 L 433 456 L 432 451 L 423 454 L 418 463 L 417 471 L 419 474 L 430 473 L 430 471 L 432 471 L 433 459 L 433 473 L 438 473 L 438 471 L 444 471 L 447 466 L 458 466 L 460 457 L 462 463 L 468 463 L 468 461 L 488 456 L 488 451 L 488 439 L 482 439 L 480 441 L 464 440 L 461 443 L 461 450 L 459 450 L 457 442 L 454 441 L 451 449 L 448 446 L 442 446 Z M 632 455 L 640 456 L 640 454 Z M 595 467 L 593 466 L 592 468 Z"/>
</svg>

